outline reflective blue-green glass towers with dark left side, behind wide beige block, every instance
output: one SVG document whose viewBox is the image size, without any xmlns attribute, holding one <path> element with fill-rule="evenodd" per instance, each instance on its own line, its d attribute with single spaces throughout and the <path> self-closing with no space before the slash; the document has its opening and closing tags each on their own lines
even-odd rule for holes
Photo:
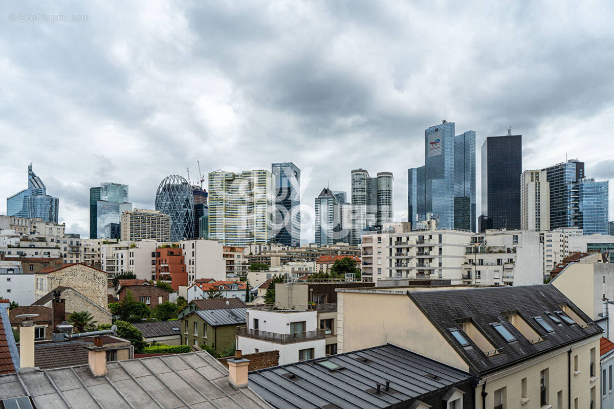
<svg viewBox="0 0 614 409">
<path fill-rule="evenodd" d="M 130 210 L 128 185 L 106 182 L 90 188 L 90 239 L 119 239 L 120 216 Z"/>
</svg>

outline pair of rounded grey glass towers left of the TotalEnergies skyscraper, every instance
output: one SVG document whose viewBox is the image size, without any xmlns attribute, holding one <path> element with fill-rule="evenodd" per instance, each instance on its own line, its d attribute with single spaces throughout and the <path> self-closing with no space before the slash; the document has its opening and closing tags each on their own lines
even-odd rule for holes
<svg viewBox="0 0 614 409">
<path fill-rule="evenodd" d="M 352 245 L 360 244 L 367 227 L 381 227 L 392 221 L 392 172 L 370 177 L 365 169 L 354 169 L 352 177 Z"/>
</svg>

